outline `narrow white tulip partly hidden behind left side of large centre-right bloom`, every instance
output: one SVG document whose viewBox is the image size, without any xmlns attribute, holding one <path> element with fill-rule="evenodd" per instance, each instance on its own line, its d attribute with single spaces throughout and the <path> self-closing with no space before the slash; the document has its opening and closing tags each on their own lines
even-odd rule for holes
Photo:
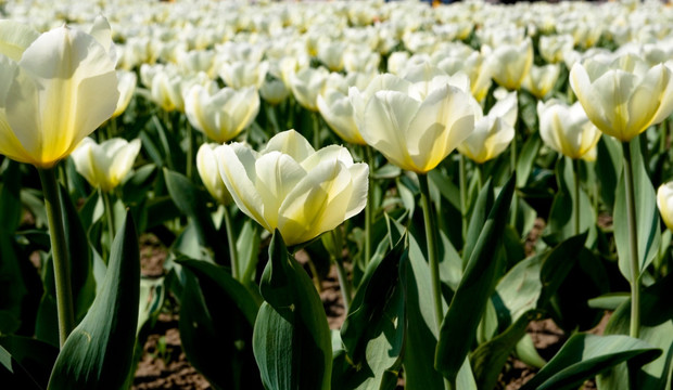
<svg viewBox="0 0 673 390">
<path fill-rule="evenodd" d="M 336 89 L 327 90 L 318 95 L 318 109 L 330 129 L 342 140 L 352 144 L 367 144 L 357 128 L 355 110 L 347 94 Z"/>
</svg>

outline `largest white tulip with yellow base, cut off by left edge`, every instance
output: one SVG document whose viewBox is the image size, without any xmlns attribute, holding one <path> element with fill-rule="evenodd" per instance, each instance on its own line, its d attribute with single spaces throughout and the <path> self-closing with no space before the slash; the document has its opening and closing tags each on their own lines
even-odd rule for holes
<svg viewBox="0 0 673 390">
<path fill-rule="evenodd" d="M 115 110 L 112 36 L 102 17 L 90 34 L 63 26 L 22 48 L 26 31 L 0 44 L 0 154 L 51 168 Z"/>
</svg>

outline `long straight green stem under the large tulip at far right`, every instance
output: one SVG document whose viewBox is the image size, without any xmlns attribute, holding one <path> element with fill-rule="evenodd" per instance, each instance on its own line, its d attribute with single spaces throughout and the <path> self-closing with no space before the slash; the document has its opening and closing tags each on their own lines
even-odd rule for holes
<svg viewBox="0 0 673 390">
<path fill-rule="evenodd" d="M 631 328 L 628 335 L 637 338 L 640 332 L 640 262 L 638 261 L 638 232 L 633 182 L 633 160 L 628 142 L 622 143 L 624 152 L 624 182 L 626 184 L 626 218 L 631 257 Z"/>
</svg>

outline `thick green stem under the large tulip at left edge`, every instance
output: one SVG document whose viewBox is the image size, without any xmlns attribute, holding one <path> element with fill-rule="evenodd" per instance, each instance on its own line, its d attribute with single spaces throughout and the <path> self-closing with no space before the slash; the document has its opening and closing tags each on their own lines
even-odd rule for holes
<svg viewBox="0 0 673 390">
<path fill-rule="evenodd" d="M 63 224 L 63 211 L 61 210 L 61 197 L 56 183 L 55 170 L 38 168 L 42 192 L 45 194 L 45 208 L 49 222 L 49 236 L 54 266 L 54 280 L 56 287 L 56 311 L 59 316 L 59 343 L 63 347 L 65 339 L 75 328 L 75 308 L 71 283 L 71 264 L 65 242 L 65 226 Z"/>
</svg>

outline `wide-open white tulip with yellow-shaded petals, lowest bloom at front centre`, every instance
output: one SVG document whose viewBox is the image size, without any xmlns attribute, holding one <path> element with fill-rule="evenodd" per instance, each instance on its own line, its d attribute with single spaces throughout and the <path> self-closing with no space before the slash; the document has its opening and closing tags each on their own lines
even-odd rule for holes
<svg viewBox="0 0 673 390">
<path fill-rule="evenodd" d="M 215 150 L 219 172 L 237 206 L 287 245 L 306 243 L 360 212 L 369 167 L 345 147 L 315 151 L 294 130 L 271 138 L 262 152 L 232 143 Z"/>
</svg>

